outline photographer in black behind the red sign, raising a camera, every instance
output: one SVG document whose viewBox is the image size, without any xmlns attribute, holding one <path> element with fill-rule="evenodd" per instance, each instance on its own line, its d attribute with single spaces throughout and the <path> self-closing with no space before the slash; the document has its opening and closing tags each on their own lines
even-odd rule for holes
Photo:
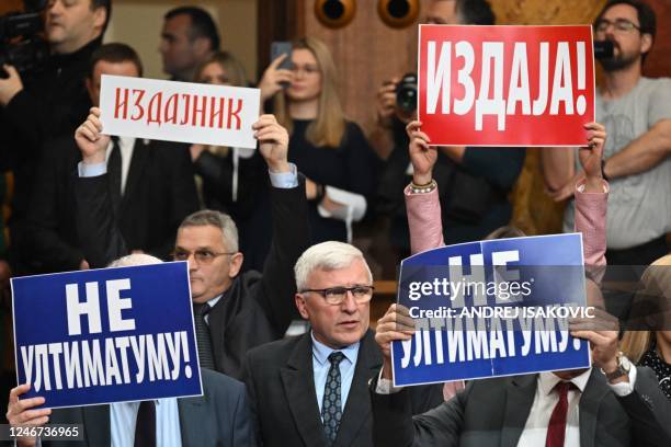
<svg viewBox="0 0 671 447">
<path fill-rule="evenodd" d="M 486 0 L 433 0 L 424 23 L 493 25 Z M 403 187 L 412 168 L 405 126 L 417 119 L 417 76 L 385 82 L 377 93 L 377 124 L 371 145 L 386 160 L 379 183 L 378 210 L 391 216 L 390 240 L 400 257 L 410 254 Z M 434 170 L 441 185 L 441 208 L 446 244 L 485 239 L 509 224 L 512 205 L 508 193 L 524 164 L 524 148 L 468 148 L 442 146 Z"/>
</svg>

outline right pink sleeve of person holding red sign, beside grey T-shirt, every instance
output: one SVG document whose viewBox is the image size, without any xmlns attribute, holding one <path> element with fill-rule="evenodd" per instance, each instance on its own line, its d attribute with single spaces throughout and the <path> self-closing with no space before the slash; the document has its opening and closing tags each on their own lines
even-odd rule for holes
<svg viewBox="0 0 671 447">
<path fill-rule="evenodd" d="M 609 184 L 603 193 L 583 193 L 583 184 L 576 185 L 576 231 L 582 233 L 584 265 L 605 265 L 606 209 Z"/>
</svg>

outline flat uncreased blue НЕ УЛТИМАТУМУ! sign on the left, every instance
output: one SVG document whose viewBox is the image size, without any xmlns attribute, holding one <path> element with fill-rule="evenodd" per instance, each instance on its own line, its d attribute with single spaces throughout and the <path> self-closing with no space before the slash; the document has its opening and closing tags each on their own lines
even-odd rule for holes
<svg viewBox="0 0 671 447">
<path fill-rule="evenodd" d="M 201 396 L 186 262 L 12 278 L 22 398 L 75 406 Z"/>
</svg>

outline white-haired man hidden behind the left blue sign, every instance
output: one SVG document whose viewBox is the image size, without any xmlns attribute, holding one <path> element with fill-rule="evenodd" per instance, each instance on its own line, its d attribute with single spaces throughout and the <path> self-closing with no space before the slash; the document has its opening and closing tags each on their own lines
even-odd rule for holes
<svg viewBox="0 0 671 447">
<path fill-rule="evenodd" d="M 130 254 L 111 266 L 160 263 L 145 254 Z M 201 369 L 203 396 L 167 398 L 109 405 L 39 409 L 44 398 L 19 400 L 30 389 L 21 385 L 10 392 L 7 419 L 13 426 L 79 424 L 82 440 L 42 442 L 44 446 L 252 446 L 253 432 L 244 385 L 223 374 Z M 19 438 L 19 446 L 35 446 L 35 438 Z"/>
</svg>

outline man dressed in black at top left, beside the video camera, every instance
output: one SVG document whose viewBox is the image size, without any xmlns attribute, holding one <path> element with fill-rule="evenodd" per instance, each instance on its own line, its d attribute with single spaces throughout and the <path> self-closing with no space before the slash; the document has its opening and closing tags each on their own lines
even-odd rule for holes
<svg viewBox="0 0 671 447">
<path fill-rule="evenodd" d="M 3 64 L 0 70 L 0 167 L 14 171 L 10 230 L 19 271 L 36 161 L 49 138 L 73 134 L 87 116 L 91 106 L 84 85 L 87 67 L 101 45 L 111 11 L 111 0 L 45 3 L 42 8 L 46 7 L 45 36 L 50 56 L 44 67 L 21 72 L 21 66 Z"/>
</svg>

